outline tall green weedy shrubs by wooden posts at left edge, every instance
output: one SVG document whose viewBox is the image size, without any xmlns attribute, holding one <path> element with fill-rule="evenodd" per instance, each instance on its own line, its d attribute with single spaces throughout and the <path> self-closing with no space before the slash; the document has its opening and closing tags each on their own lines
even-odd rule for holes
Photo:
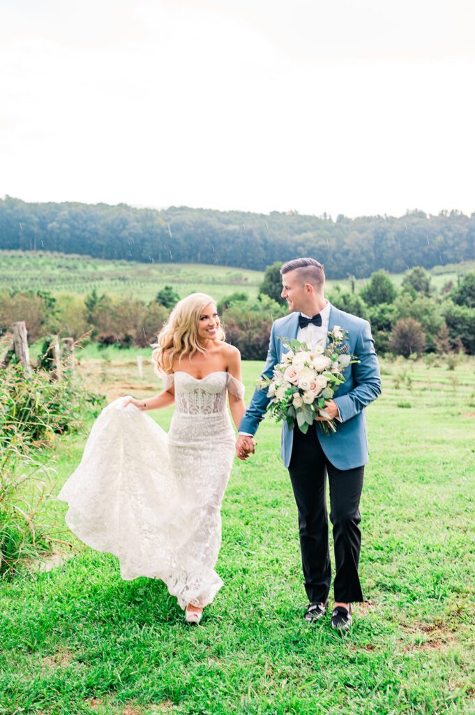
<svg viewBox="0 0 475 715">
<path fill-rule="evenodd" d="M 36 449 L 56 433 L 78 430 L 86 411 L 97 413 L 103 401 L 68 373 L 58 383 L 43 370 L 27 374 L 20 364 L 0 372 L 1 575 L 55 541 L 39 516 L 49 470 L 35 459 Z"/>
</svg>

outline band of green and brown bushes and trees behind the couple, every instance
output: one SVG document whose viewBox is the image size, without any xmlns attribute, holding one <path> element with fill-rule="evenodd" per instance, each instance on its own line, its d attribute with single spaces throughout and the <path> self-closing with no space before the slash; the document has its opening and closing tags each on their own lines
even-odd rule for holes
<svg viewBox="0 0 475 715">
<path fill-rule="evenodd" d="M 279 262 L 267 267 L 258 297 L 234 292 L 218 303 L 226 340 L 239 348 L 244 360 L 264 360 L 272 322 L 288 310 L 280 295 L 280 267 Z M 87 335 L 100 345 L 147 347 L 155 342 L 180 297 L 184 296 L 170 286 L 162 287 L 149 302 L 99 295 L 96 290 L 85 299 L 54 297 L 44 291 L 4 291 L 0 292 L 0 336 L 14 322 L 24 320 L 31 341 L 61 333 L 74 338 Z M 406 271 L 399 289 L 388 273 L 379 270 L 360 291 L 351 280 L 349 288 L 336 285 L 327 297 L 341 310 L 369 320 L 380 354 L 475 355 L 475 272 L 437 292 L 422 267 Z"/>
</svg>

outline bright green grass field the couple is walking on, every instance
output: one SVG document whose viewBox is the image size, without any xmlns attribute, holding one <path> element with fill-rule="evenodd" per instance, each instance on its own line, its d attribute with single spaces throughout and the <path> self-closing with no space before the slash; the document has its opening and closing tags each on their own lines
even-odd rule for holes
<svg viewBox="0 0 475 715">
<path fill-rule="evenodd" d="M 109 399 L 150 395 L 151 365 L 140 379 L 135 358 L 84 353 L 79 370 Z M 244 364 L 247 400 L 260 367 Z M 361 501 L 366 600 L 351 633 L 302 619 L 296 507 L 279 426 L 265 420 L 255 458 L 231 474 L 225 586 L 202 625 L 186 626 L 163 584 L 121 581 L 114 557 L 64 533 L 61 566 L 1 583 L 0 714 L 474 712 L 475 359 L 381 367 Z M 154 416 L 166 428 L 171 409 Z M 53 493 L 84 440 L 58 440 Z M 46 516 L 61 525 L 64 512 L 50 501 Z"/>
</svg>

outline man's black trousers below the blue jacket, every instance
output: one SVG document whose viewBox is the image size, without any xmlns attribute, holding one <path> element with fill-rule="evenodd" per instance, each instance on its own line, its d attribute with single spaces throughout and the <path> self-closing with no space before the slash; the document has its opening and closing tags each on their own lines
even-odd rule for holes
<svg viewBox="0 0 475 715">
<path fill-rule="evenodd" d="M 326 512 L 326 475 L 330 485 L 330 521 L 335 551 L 334 598 L 363 601 L 358 576 L 361 531 L 359 498 L 364 467 L 340 470 L 326 458 L 317 431 L 304 435 L 294 427 L 289 474 L 299 510 L 300 548 L 309 601 L 325 603 L 330 592 L 331 564 Z"/>
</svg>

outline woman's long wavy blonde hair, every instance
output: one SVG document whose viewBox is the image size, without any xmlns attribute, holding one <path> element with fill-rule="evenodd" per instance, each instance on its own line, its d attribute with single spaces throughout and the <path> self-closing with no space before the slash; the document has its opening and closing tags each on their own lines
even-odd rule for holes
<svg viewBox="0 0 475 715">
<path fill-rule="evenodd" d="M 195 352 L 206 352 L 206 349 L 199 344 L 198 326 L 201 311 L 210 303 L 216 305 L 214 298 L 206 293 L 191 293 L 176 303 L 169 319 L 159 332 L 155 345 L 152 345 L 155 349 L 151 357 L 156 363 L 156 368 L 168 372 L 174 358 L 181 360 L 185 355 L 191 358 Z M 219 340 L 224 340 L 226 337 L 221 325 L 219 325 L 218 337 Z"/>
</svg>

